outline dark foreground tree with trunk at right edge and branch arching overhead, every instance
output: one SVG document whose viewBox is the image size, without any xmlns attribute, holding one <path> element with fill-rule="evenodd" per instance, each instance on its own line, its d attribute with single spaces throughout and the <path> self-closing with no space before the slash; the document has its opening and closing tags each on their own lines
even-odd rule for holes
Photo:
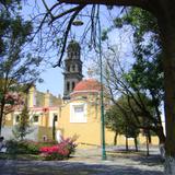
<svg viewBox="0 0 175 175">
<path fill-rule="evenodd" d="M 44 1 L 44 0 L 43 0 Z M 44 1 L 45 2 L 45 1 Z M 78 4 L 73 8 L 67 8 L 62 11 L 61 5 L 67 4 Z M 105 4 L 105 5 L 130 5 L 130 7 L 139 7 L 147 11 L 150 11 L 158 20 L 158 26 L 160 28 L 160 37 L 161 37 L 161 45 L 163 48 L 163 72 L 164 72 L 164 86 L 165 86 L 165 122 L 166 122 L 166 166 L 165 172 L 166 174 L 173 174 L 172 170 L 175 164 L 175 0 L 59 0 L 55 3 L 50 9 L 46 7 L 47 14 L 45 15 L 44 21 L 49 16 L 49 21 L 52 24 L 55 21 L 60 20 L 60 18 L 73 13 L 70 15 L 69 24 L 67 25 L 66 30 L 66 39 L 67 42 L 67 34 L 70 32 L 71 24 L 75 19 L 75 15 L 88 4 Z M 65 5 L 66 7 L 66 5 Z M 58 13 L 54 13 L 60 9 Z M 93 24 L 94 21 L 92 20 Z M 92 25 L 94 28 L 94 25 Z M 65 51 L 66 45 L 63 45 L 62 51 Z M 59 60 L 58 65 L 60 65 L 61 59 Z M 173 162 L 171 160 L 174 160 Z"/>
</svg>

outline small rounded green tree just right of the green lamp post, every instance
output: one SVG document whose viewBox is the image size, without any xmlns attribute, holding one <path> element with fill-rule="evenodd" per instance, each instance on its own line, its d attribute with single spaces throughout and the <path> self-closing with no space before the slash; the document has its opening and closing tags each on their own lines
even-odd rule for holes
<svg viewBox="0 0 175 175">
<path fill-rule="evenodd" d="M 139 135 L 139 128 L 137 127 L 137 121 L 131 116 L 132 113 L 126 100 L 126 97 L 121 96 L 116 102 L 117 105 L 115 104 L 106 112 L 105 125 L 116 133 L 114 144 L 116 144 L 118 135 L 125 135 L 126 150 L 128 151 L 128 138 L 133 138 L 136 151 L 138 151 L 137 137 Z"/>
</svg>

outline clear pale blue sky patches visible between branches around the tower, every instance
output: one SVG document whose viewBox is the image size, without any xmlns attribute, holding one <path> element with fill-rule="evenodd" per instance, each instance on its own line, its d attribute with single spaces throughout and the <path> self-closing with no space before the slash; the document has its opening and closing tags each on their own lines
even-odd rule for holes
<svg viewBox="0 0 175 175">
<path fill-rule="evenodd" d="M 40 0 L 37 1 L 39 4 L 39 11 L 43 11 L 44 7 L 42 5 L 42 3 L 39 1 Z M 54 0 L 50 0 L 49 3 L 51 4 L 52 1 Z M 31 3 L 31 7 L 24 8 L 23 13 L 26 19 L 30 16 L 28 14 L 33 10 L 32 8 L 33 8 L 32 3 Z M 105 15 L 105 8 L 104 8 L 104 11 L 102 11 L 102 15 Z M 104 19 L 105 18 L 102 18 L 102 30 L 106 25 L 106 22 L 104 21 Z M 73 28 L 73 33 L 74 33 L 75 37 L 81 35 L 81 31 L 83 31 L 83 30 L 84 30 L 84 26 L 79 27 L 79 28 Z M 126 46 L 126 43 L 127 43 L 126 40 L 128 40 L 128 36 L 127 35 L 122 36 L 122 32 L 114 31 L 113 33 L 110 33 L 109 39 L 110 39 L 112 44 L 119 45 L 119 43 L 122 42 L 125 44 L 125 46 L 122 46 L 124 49 L 126 49 L 126 50 L 128 49 Z M 66 57 L 66 55 L 65 55 L 65 57 Z M 86 77 L 86 70 L 91 67 L 91 61 L 88 62 L 88 57 L 91 58 L 92 56 L 91 55 L 83 55 L 83 54 L 81 56 L 81 58 L 82 58 L 81 60 L 83 61 L 84 77 Z M 57 57 L 55 58 L 55 60 L 56 59 L 57 59 Z M 44 82 L 36 83 L 37 90 L 40 92 L 46 92 L 47 90 L 49 90 L 49 92 L 56 96 L 58 96 L 59 94 L 62 95 L 63 94 L 63 74 L 62 74 L 62 72 L 63 72 L 63 70 L 58 67 L 51 68 L 50 66 L 48 66 L 48 68 L 45 71 L 43 71 L 40 74 L 40 78 L 44 80 Z"/>
</svg>

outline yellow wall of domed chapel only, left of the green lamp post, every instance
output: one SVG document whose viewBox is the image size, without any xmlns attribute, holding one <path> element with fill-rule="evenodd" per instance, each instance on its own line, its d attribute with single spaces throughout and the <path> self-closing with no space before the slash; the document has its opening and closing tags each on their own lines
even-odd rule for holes
<svg viewBox="0 0 175 175">
<path fill-rule="evenodd" d="M 73 103 L 85 103 L 85 101 L 74 101 Z M 58 121 L 58 128 L 63 137 L 77 135 L 78 143 L 101 144 L 101 122 L 100 110 L 88 104 L 86 122 L 70 122 L 70 103 L 65 104 Z"/>
</svg>

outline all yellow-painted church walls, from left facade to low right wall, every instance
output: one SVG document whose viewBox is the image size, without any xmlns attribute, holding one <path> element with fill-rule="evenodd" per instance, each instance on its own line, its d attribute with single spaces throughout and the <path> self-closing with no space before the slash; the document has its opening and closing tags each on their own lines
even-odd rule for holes
<svg viewBox="0 0 175 175">
<path fill-rule="evenodd" d="M 33 107 L 35 103 L 35 88 L 30 90 L 28 95 L 28 105 Z M 47 92 L 45 94 L 45 106 L 43 107 L 49 106 L 49 96 L 50 94 Z M 70 122 L 70 106 L 72 103 L 86 104 L 86 122 Z M 43 140 L 43 136 L 46 136 L 48 139 L 52 138 L 49 117 L 51 117 L 51 113 L 55 113 L 58 114 L 58 122 L 56 128 L 61 131 L 65 138 L 77 135 L 77 142 L 79 145 L 101 145 L 101 108 L 97 104 L 100 104 L 97 97 L 90 95 L 85 100 L 71 100 L 70 102 L 65 103 L 61 107 L 58 106 L 58 109 L 43 113 L 43 116 L 39 116 L 39 121 L 37 124 L 39 128 L 38 139 Z M 42 110 L 37 113 L 40 114 Z M 13 114 L 9 114 L 5 117 L 5 126 L 13 126 Z M 105 129 L 106 144 L 113 145 L 114 137 L 115 133 L 113 131 Z M 129 139 L 128 142 L 130 145 L 135 145 L 133 139 Z M 125 143 L 126 138 L 124 136 L 118 136 L 117 144 L 125 145 Z M 138 143 L 145 144 L 145 137 L 140 135 L 138 138 Z M 159 144 L 158 137 L 152 137 L 152 144 Z"/>
</svg>

